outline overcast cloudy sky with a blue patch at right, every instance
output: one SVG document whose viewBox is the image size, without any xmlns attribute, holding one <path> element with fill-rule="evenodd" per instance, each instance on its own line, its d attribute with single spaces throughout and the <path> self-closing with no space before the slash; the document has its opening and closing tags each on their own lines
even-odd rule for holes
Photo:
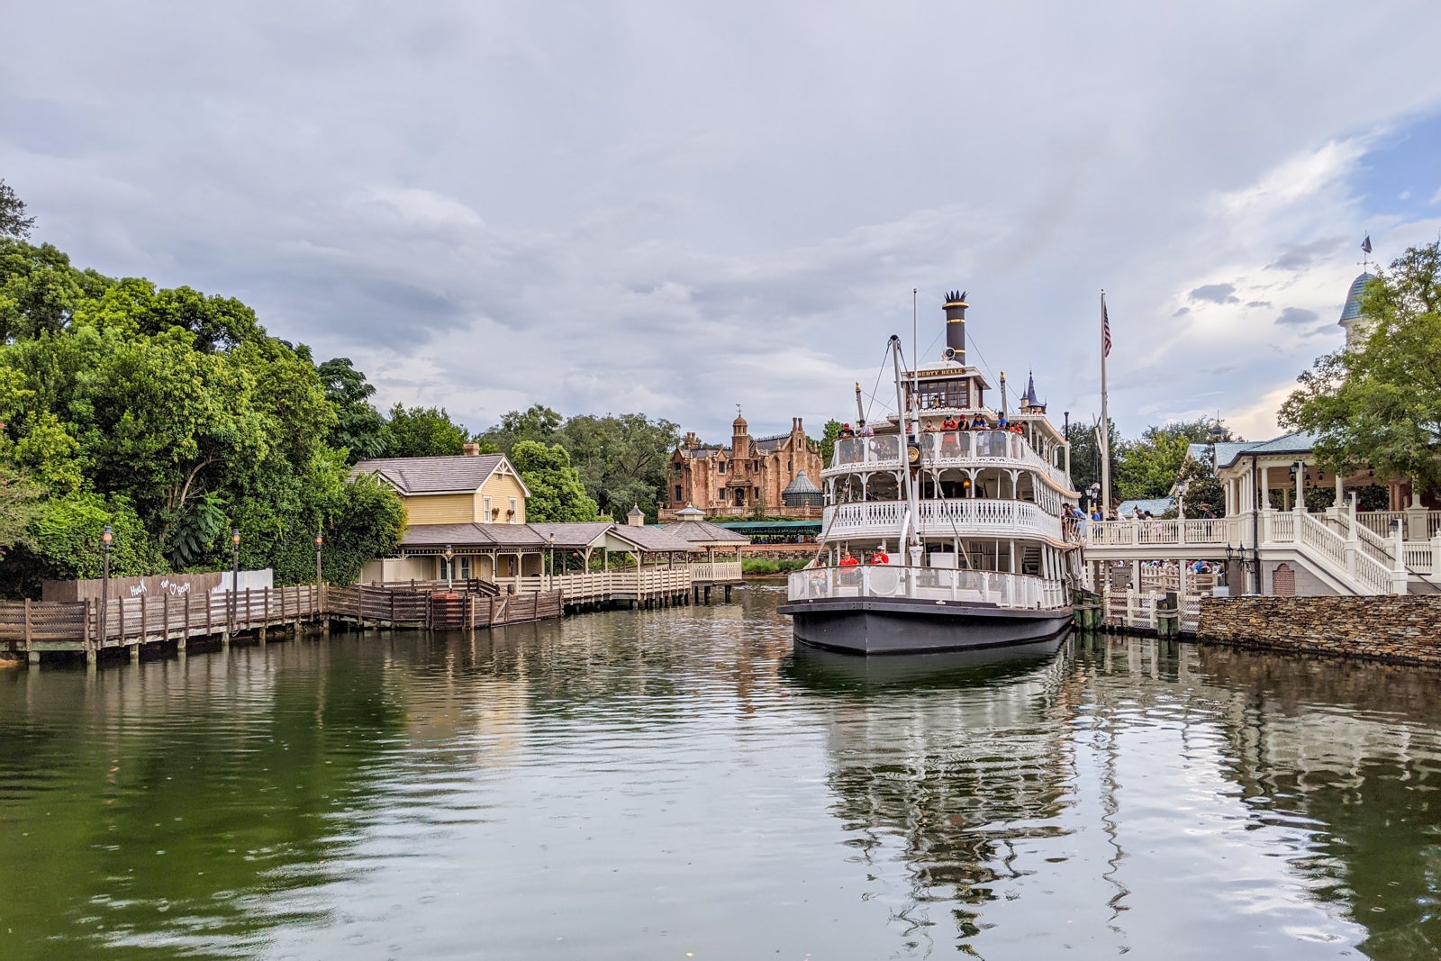
<svg viewBox="0 0 1441 961">
<path fill-rule="evenodd" d="M 965 288 L 971 362 L 1089 419 L 1105 288 L 1123 432 L 1270 437 L 1362 236 L 1441 229 L 1441 4 L 1186 6 L 20 4 L 0 177 L 474 429 L 818 435 L 912 288 L 922 354 Z"/>
</svg>

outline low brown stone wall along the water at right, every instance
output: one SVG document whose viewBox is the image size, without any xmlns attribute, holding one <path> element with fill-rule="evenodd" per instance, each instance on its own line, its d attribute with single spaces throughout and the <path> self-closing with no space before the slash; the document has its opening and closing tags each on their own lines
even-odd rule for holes
<svg viewBox="0 0 1441 961">
<path fill-rule="evenodd" d="M 1441 595 L 1203 596 L 1196 638 L 1232 647 L 1441 666 Z"/>
</svg>

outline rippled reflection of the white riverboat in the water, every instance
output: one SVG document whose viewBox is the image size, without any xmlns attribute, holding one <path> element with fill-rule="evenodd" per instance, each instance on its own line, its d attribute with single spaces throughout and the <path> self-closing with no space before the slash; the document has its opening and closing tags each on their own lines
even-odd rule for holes
<svg viewBox="0 0 1441 961">
<path fill-rule="evenodd" d="M 983 906 L 1013 895 L 1016 849 L 1066 833 L 1071 637 L 867 658 L 797 647 L 782 663 L 824 705 L 831 813 L 908 951 L 968 942 Z"/>
</svg>

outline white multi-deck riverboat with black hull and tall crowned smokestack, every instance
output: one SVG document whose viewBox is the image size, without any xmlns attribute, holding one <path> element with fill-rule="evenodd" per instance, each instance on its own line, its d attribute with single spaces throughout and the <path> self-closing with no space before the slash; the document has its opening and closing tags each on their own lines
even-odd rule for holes
<svg viewBox="0 0 1441 961">
<path fill-rule="evenodd" d="M 1000 406 L 986 403 L 990 383 L 965 363 L 967 307 L 964 292 L 947 295 L 935 363 L 904 369 L 891 337 L 901 414 L 867 425 L 856 385 L 857 426 L 821 471 L 820 553 L 790 575 L 780 608 L 801 644 L 967 650 L 1035 643 L 1071 622 L 1071 450 L 1035 377 L 1010 411 L 1001 372 Z"/>
</svg>

